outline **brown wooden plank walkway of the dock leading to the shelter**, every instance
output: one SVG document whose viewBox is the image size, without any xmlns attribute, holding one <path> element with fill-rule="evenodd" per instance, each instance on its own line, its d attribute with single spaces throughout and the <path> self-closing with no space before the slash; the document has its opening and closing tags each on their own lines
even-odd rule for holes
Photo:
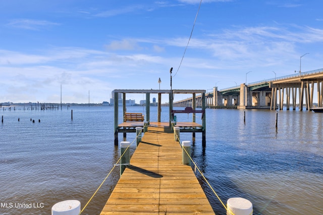
<svg viewBox="0 0 323 215">
<path fill-rule="evenodd" d="M 101 213 L 214 214 L 169 127 L 148 127 Z"/>
</svg>

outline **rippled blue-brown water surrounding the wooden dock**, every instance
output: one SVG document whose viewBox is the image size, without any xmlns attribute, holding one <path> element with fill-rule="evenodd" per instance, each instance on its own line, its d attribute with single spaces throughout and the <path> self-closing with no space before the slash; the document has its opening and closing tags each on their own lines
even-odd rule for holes
<svg viewBox="0 0 323 215">
<path fill-rule="evenodd" d="M 142 107 L 127 111 L 145 114 Z M 157 121 L 156 107 L 150 112 L 151 121 Z M 323 114 L 279 111 L 276 129 L 274 111 L 248 110 L 246 122 L 243 112 L 207 109 L 206 147 L 199 133 L 192 141 L 193 158 L 223 202 L 247 198 L 254 214 L 322 214 Z M 119 115 L 121 122 L 121 109 Z M 80 200 L 83 208 L 119 158 L 113 107 L 1 109 L 0 116 L 0 214 L 50 214 L 53 204 L 68 199 Z M 168 120 L 167 107 L 161 117 Z M 177 118 L 190 122 L 192 116 Z M 181 134 L 181 140 L 192 140 L 191 134 Z M 197 177 L 214 211 L 225 214 Z M 82 214 L 98 214 L 118 179 L 116 168 Z M 32 208 L 15 207 L 18 203 L 32 203 Z"/>
</svg>

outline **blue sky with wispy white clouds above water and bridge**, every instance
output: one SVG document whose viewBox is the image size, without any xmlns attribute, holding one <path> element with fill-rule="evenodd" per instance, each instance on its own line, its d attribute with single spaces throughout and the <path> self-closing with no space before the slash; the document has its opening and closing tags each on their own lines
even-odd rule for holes
<svg viewBox="0 0 323 215">
<path fill-rule="evenodd" d="M 173 89 L 223 89 L 295 74 L 307 52 L 302 72 L 323 68 L 320 0 L 202 0 L 180 66 L 199 3 L 0 0 L 0 102 L 170 89 L 171 67 Z"/>
</svg>

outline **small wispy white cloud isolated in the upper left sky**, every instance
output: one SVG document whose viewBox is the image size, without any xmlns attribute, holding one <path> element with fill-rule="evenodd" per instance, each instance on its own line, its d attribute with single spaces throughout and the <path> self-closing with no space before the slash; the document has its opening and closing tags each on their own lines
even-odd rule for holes
<svg viewBox="0 0 323 215">
<path fill-rule="evenodd" d="M 32 19 L 15 19 L 11 20 L 7 26 L 15 27 L 15 28 L 23 28 L 28 30 L 40 30 L 47 28 L 49 26 L 57 26 L 60 23 L 49 22 L 46 20 L 32 20 Z"/>
</svg>

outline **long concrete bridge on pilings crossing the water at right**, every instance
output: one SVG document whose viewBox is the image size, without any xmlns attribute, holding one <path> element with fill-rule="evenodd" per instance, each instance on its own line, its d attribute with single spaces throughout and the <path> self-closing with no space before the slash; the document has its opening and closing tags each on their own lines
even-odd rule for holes
<svg viewBox="0 0 323 215">
<path fill-rule="evenodd" d="M 314 89 L 316 91 L 314 91 Z M 323 105 L 323 69 L 312 70 L 295 75 L 266 79 L 252 83 L 205 93 L 208 108 L 237 108 L 237 109 L 269 109 L 306 110 L 314 107 L 313 97 L 317 96 L 317 105 Z M 201 96 L 195 96 L 197 106 L 201 104 Z M 176 101 L 174 106 L 191 106 L 193 97 Z M 304 101 L 305 100 L 305 101 Z M 297 103 L 298 102 L 298 103 Z"/>
</svg>

